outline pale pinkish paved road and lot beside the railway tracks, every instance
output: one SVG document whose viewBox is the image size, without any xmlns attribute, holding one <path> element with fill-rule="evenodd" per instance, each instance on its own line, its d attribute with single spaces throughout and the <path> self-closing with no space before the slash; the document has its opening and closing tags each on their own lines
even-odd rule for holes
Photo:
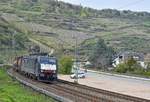
<svg viewBox="0 0 150 102">
<path fill-rule="evenodd" d="M 68 75 L 59 75 L 60 79 L 74 81 Z M 127 94 L 131 96 L 150 99 L 150 81 L 123 78 L 87 72 L 85 79 L 79 79 L 80 84 Z"/>
</svg>

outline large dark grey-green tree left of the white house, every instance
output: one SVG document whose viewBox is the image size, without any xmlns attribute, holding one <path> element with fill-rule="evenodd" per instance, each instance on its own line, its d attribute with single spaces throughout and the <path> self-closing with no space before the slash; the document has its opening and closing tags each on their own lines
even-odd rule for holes
<svg viewBox="0 0 150 102">
<path fill-rule="evenodd" d="M 108 47 L 103 39 L 98 39 L 94 45 L 89 60 L 96 68 L 106 68 L 111 64 L 114 51 L 111 47 Z"/>
</svg>

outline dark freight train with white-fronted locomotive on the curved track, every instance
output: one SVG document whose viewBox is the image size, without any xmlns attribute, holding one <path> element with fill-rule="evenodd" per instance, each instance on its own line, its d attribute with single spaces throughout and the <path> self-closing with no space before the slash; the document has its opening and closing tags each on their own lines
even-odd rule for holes
<svg viewBox="0 0 150 102">
<path fill-rule="evenodd" d="M 15 71 L 38 81 L 51 82 L 57 80 L 57 59 L 48 56 L 46 53 L 16 57 L 13 66 Z"/>
</svg>

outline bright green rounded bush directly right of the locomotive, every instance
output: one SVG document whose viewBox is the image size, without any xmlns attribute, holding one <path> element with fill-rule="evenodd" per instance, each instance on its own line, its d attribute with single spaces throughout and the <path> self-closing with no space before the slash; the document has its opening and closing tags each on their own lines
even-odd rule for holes
<svg viewBox="0 0 150 102">
<path fill-rule="evenodd" d="M 60 70 L 59 72 L 61 74 L 71 74 L 71 70 L 72 70 L 72 58 L 69 56 L 63 56 L 60 59 Z"/>
</svg>

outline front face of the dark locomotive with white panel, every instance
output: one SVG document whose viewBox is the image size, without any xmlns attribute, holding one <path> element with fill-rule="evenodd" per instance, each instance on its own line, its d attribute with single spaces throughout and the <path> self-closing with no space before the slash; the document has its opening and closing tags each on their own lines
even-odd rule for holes
<svg viewBox="0 0 150 102">
<path fill-rule="evenodd" d="M 41 81 L 57 80 L 57 60 L 53 57 L 39 57 L 39 78 Z"/>
</svg>

